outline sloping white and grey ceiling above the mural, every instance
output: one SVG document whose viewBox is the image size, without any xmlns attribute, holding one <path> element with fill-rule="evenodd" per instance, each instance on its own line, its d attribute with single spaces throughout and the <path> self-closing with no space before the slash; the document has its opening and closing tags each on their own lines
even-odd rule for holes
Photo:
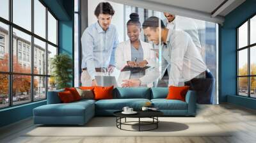
<svg viewBox="0 0 256 143">
<path fill-rule="evenodd" d="M 245 0 L 109 0 L 150 10 L 222 24 L 224 17 Z"/>
</svg>

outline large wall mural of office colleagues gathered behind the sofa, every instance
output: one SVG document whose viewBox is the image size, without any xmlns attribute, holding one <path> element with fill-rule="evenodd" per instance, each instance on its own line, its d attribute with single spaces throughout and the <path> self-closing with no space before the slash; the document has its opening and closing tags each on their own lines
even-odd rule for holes
<svg viewBox="0 0 256 143">
<path fill-rule="evenodd" d="M 88 13 L 81 36 L 82 86 L 189 86 L 197 92 L 198 103 L 216 102 L 216 24 L 92 3 L 94 13 Z M 121 12 L 123 22 L 115 17 Z"/>
</svg>

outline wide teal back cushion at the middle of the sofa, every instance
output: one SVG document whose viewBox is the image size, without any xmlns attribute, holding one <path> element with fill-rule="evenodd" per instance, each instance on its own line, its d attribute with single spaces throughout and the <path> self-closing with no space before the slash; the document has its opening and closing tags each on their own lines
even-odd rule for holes
<svg viewBox="0 0 256 143">
<path fill-rule="evenodd" d="M 150 100 L 150 88 L 148 87 L 116 87 L 113 90 L 113 98 L 145 98 Z"/>
</svg>

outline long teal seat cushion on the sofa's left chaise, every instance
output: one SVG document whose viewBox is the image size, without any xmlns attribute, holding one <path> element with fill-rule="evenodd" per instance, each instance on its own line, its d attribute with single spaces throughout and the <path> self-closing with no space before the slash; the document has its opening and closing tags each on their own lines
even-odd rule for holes
<svg viewBox="0 0 256 143">
<path fill-rule="evenodd" d="M 84 116 L 86 110 L 94 112 L 93 102 L 47 104 L 36 107 L 34 116 Z"/>
</svg>

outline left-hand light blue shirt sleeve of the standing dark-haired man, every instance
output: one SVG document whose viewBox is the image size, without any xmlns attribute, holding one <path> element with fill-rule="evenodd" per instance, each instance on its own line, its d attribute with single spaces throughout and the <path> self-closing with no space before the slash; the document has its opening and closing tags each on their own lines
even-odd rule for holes
<svg viewBox="0 0 256 143">
<path fill-rule="evenodd" d="M 86 63 L 87 72 L 92 79 L 95 79 L 95 65 L 93 62 L 93 37 L 88 31 L 84 31 L 81 37 L 83 62 Z"/>
</svg>

